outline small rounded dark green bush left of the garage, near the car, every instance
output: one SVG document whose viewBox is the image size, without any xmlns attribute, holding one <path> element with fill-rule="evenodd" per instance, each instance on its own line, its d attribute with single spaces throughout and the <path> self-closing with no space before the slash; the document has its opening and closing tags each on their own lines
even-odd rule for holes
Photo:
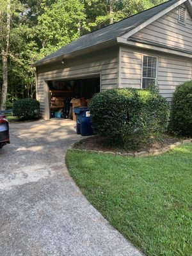
<svg viewBox="0 0 192 256">
<path fill-rule="evenodd" d="M 38 118 L 40 103 L 35 99 L 20 99 L 13 103 L 13 115 L 26 120 Z"/>
</svg>

